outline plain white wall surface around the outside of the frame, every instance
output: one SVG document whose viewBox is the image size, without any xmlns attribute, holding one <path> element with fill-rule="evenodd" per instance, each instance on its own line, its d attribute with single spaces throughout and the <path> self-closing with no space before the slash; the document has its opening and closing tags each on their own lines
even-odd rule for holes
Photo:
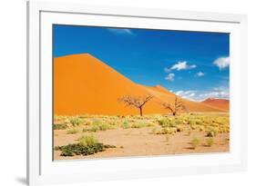
<svg viewBox="0 0 256 186">
<path fill-rule="evenodd" d="M 71 1 L 71 0 L 69 0 Z M 87 185 L 255 185 L 255 33 L 256 12 L 250 0 L 73 0 L 95 5 L 121 5 L 238 13 L 249 16 L 249 171 L 162 179 L 92 182 Z M 26 1 L 0 5 L 0 185 L 26 182 Z M 69 184 L 69 185 L 86 185 Z"/>
</svg>

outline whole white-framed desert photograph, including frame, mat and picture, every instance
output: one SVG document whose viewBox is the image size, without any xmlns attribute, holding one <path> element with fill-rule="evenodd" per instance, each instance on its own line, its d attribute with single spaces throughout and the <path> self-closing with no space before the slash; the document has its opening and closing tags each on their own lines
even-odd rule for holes
<svg viewBox="0 0 256 186">
<path fill-rule="evenodd" d="M 247 17 L 27 3 L 27 182 L 244 171 Z"/>
</svg>

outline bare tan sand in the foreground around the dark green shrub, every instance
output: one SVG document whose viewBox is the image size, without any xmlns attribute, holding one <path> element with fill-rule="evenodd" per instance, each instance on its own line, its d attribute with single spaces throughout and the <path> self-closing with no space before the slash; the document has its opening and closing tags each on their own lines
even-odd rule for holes
<svg viewBox="0 0 256 186">
<path fill-rule="evenodd" d="M 88 156 L 60 156 L 60 151 L 54 152 L 54 160 L 72 159 L 93 159 L 93 158 L 113 158 L 127 156 L 155 156 L 171 155 L 182 153 L 203 153 L 203 152 L 229 152 L 230 134 L 220 133 L 214 138 L 212 146 L 206 146 L 204 132 L 192 131 L 177 132 L 169 136 L 169 141 L 165 134 L 153 134 L 152 128 L 140 129 L 114 129 L 105 132 L 93 132 L 99 142 L 115 145 L 116 148 L 107 149 L 105 152 L 97 152 Z M 92 132 L 78 132 L 67 134 L 66 130 L 55 130 L 54 146 L 76 143 L 77 138 Z M 193 137 L 200 139 L 200 145 L 193 149 L 190 141 Z"/>
</svg>

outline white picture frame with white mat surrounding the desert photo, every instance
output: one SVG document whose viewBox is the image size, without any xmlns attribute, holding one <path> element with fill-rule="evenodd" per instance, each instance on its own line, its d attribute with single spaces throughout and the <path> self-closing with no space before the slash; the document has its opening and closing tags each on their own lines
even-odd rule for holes
<svg viewBox="0 0 256 186">
<path fill-rule="evenodd" d="M 46 87 L 49 87 L 47 84 L 52 81 L 51 25 L 57 23 L 230 32 L 232 35 L 230 152 L 53 162 L 52 146 L 49 146 L 52 142 L 52 115 L 49 113 L 49 108 L 52 108 L 52 98 L 51 89 Z M 27 3 L 27 183 L 29 185 L 219 173 L 246 169 L 246 15 L 40 1 Z"/>
</svg>

